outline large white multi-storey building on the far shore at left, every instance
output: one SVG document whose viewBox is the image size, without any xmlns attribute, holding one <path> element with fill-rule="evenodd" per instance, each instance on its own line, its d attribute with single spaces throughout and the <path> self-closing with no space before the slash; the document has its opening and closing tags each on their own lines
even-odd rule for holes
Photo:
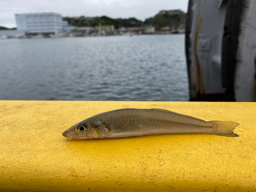
<svg viewBox="0 0 256 192">
<path fill-rule="evenodd" d="M 28 34 L 50 34 L 63 31 L 61 14 L 58 13 L 23 13 L 15 14 L 17 30 L 25 30 Z"/>
</svg>

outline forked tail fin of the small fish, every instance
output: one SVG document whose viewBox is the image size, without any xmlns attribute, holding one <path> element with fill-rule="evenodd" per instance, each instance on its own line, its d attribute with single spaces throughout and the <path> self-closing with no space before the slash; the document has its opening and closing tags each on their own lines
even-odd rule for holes
<svg viewBox="0 0 256 192">
<path fill-rule="evenodd" d="M 209 121 L 214 123 L 216 128 L 216 135 L 222 135 L 226 137 L 239 137 L 239 135 L 234 134 L 232 131 L 236 128 L 239 123 L 231 121 Z"/>
</svg>

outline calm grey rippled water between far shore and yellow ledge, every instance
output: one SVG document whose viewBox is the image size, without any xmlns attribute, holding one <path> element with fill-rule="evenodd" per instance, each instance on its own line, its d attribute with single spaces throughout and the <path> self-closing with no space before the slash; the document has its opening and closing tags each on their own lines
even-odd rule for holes
<svg viewBox="0 0 256 192">
<path fill-rule="evenodd" d="M 189 99 L 184 35 L 0 39 L 0 55 L 0 99 Z"/>
</svg>

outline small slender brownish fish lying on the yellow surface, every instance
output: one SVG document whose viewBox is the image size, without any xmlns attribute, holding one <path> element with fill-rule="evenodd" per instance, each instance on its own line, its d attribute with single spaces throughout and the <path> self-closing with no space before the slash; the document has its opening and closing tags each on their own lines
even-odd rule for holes
<svg viewBox="0 0 256 192">
<path fill-rule="evenodd" d="M 119 109 L 83 120 L 62 133 L 71 139 L 123 138 L 159 134 L 210 134 L 239 137 L 239 123 L 204 121 L 165 109 Z"/>
</svg>

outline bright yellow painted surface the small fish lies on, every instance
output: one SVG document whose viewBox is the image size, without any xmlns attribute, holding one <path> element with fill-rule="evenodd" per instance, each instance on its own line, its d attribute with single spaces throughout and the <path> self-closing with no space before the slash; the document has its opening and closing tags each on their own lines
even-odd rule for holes
<svg viewBox="0 0 256 192">
<path fill-rule="evenodd" d="M 121 108 L 236 121 L 240 137 L 61 135 L 92 115 Z M 256 103 L 0 101 L 0 165 L 0 191 L 255 191 Z"/>
</svg>

